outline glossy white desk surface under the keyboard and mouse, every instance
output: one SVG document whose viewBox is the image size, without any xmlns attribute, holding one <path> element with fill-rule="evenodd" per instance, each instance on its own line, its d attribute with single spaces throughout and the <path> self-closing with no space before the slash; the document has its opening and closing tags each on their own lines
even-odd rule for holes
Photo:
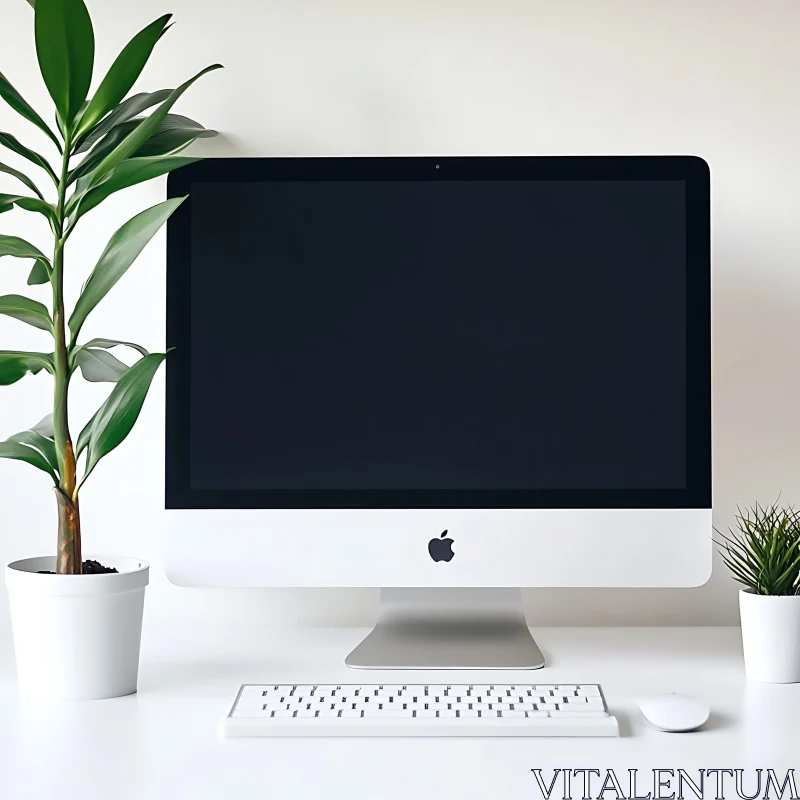
<svg viewBox="0 0 800 800">
<path fill-rule="evenodd" d="M 543 628 L 534 634 L 548 666 L 528 673 L 351 671 L 343 659 L 362 629 L 152 628 L 138 694 L 44 707 L 20 704 L 10 642 L 0 642 L 0 798 L 528 800 L 542 797 L 537 767 L 545 777 L 554 768 L 639 768 L 649 788 L 655 768 L 800 768 L 800 685 L 748 684 L 737 628 Z M 493 680 L 601 683 L 622 737 L 217 738 L 242 682 Z M 668 691 L 708 701 L 707 728 L 650 728 L 635 699 Z"/>
</svg>

